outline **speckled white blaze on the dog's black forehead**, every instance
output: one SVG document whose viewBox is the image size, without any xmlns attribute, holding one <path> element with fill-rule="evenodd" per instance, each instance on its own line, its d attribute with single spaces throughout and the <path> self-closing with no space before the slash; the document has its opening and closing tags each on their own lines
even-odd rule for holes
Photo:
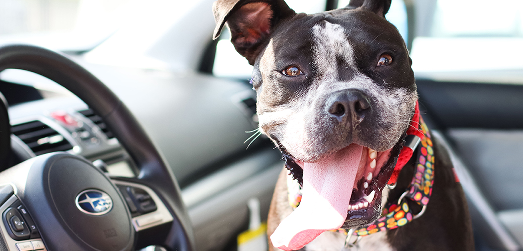
<svg viewBox="0 0 523 251">
<path fill-rule="evenodd" d="M 353 48 L 345 35 L 345 29 L 337 23 L 325 21 L 325 27 L 312 27 L 314 63 L 324 77 L 337 76 L 336 58 L 344 58 L 345 62 L 354 66 Z"/>
</svg>

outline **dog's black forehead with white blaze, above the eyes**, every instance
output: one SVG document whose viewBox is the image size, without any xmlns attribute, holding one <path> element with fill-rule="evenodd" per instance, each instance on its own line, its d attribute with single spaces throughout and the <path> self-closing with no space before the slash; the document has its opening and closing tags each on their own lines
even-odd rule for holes
<svg viewBox="0 0 523 251">
<path fill-rule="evenodd" d="M 332 64 L 369 68 L 370 57 L 380 52 L 406 53 L 403 39 L 391 23 L 361 10 L 298 15 L 281 25 L 270 43 L 279 60 L 277 66 L 288 63 L 287 58 L 289 62 L 303 58 L 314 59 L 319 68 Z"/>
</svg>

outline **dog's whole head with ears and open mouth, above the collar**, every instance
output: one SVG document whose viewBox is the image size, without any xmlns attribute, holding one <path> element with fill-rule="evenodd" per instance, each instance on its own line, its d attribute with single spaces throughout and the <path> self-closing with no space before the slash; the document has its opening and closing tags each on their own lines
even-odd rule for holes
<svg viewBox="0 0 523 251">
<path fill-rule="evenodd" d="M 260 131 L 299 170 L 293 174 L 303 179 L 304 193 L 311 187 L 344 214 L 344 228 L 380 216 L 381 190 L 417 100 L 405 43 L 384 18 L 390 2 L 352 0 L 313 15 L 296 14 L 283 0 L 213 6 L 214 38 L 226 23 L 236 50 L 254 65 Z M 339 174 L 325 174 L 333 169 Z M 343 194 L 350 199 L 339 198 Z M 305 229 L 311 228 L 320 229 Z"/>
</svg>

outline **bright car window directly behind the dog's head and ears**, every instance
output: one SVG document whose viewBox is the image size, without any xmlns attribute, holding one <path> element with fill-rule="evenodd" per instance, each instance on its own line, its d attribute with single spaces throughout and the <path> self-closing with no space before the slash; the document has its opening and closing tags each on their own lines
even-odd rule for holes
<svg viewBox="0 0 523 251">
<path fill-rule="evenodd" d="M 326 6 L 325 1 L 287 0 L 286 2 L 289 7 L 298 13 L 317 13 L 325 10 Z M 348 0 L 338 1 L 338 8 L 347 6 L 348 2 Z M 400 33 L 406 41 L 407 14 L 405 4 L 402 0 L 392 1 L 391 9 L 389 10 L 389 13 L 386 14 L 386 18 L 400 30 Z M 230 39 L 230 32 L 224 30 L 217 44 L 212 73 L 219 77 L 249 79 L 253 67 L 247 63 L 247 60 L 244 57 L 236 53 Z"/>
</svg>

